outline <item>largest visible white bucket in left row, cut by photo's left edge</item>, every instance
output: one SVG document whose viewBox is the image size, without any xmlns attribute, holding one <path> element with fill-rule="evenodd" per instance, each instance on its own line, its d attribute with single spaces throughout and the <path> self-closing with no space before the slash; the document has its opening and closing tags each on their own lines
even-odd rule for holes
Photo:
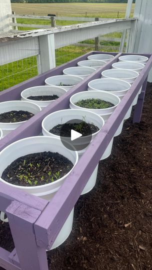
<svg viewBox="0 0 152 270">
<path fill-rule="evenodd" d="M 11 111 L 11 110 L 25 110 L 29 111 L 33 114 L 36 114 L 41 110 L 41 108 L 32 103 L 22 100 L 12 100 L 12 101 L 4 101 L 0 102 L 0 113 Z M 14 122 L 14 123 L 3 123 L 0 122 L 0 128 L 2 129 L 3 136 L 14 130 L 20 124 L 24 123 L 25 121 L 21 122 Z"/>
</svg>

